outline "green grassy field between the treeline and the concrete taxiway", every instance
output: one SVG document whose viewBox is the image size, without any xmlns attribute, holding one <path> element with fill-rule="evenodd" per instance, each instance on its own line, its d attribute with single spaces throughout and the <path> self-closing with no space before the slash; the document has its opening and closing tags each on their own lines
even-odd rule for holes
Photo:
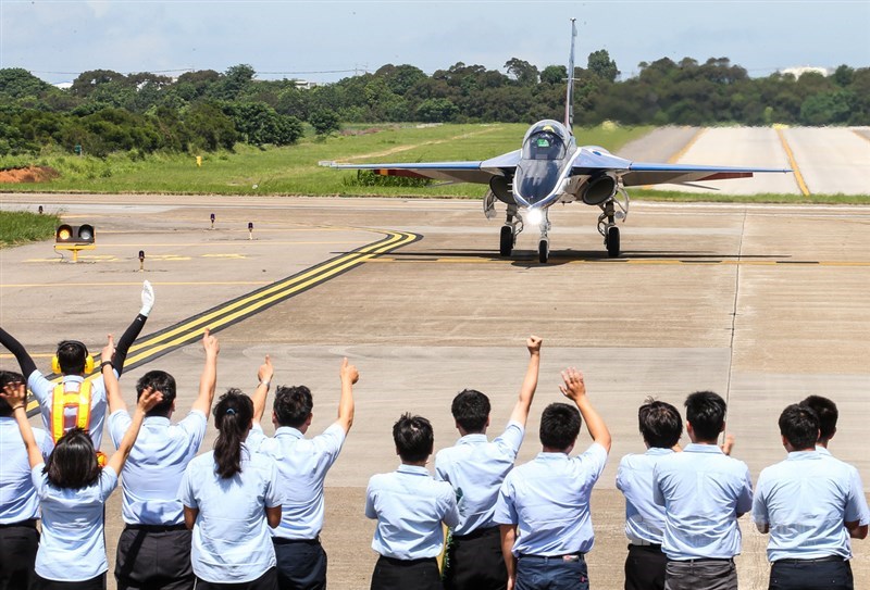
<svg viewBox="0 0 870 590">
<path fill-rule="evenodd" d="M 60 176 L 27 184 L 0 184 L 0 192 L 97 192 L 167 194 L 370 194 L 386 197 L 481 198 L 482 185 L 430 187 L 361 187 L 350 181 L 356 172 L 334 171 L 318 163 L 422 162 L 484 160 L 515 150 L 527 126 L 523 124 L 478 125 L 382 125 L 353 126 L 356 135 L 316 138 L 307 136 L 297 146 L 257 149 L 239 146 L 234 152 L 202 154 L 197 167 L 194 155 L 113 154 L 107 159 L 65 154 L 39 158 L 0 158 L 0 170 L 18 166 L 49 166 Z M 598 145 L 611 152 L 649 133 L 650 127 L 599 126 L 576 129 L 583 145 Z M 633 189 L 632 198 L 661 201 L 870 203 L 870 194 L 754 194 L 722 192 L 682 193 Z"/>
</svg>

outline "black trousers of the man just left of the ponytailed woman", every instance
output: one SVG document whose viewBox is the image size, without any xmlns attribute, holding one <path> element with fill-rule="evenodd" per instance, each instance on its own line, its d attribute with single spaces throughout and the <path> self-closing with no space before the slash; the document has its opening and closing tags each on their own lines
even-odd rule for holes
<svg viewBox="0 0 870 590">
<path fill-rule="evenodd" d="M 128 525 L 117 540 L 119 590 L 192 590 L 191 532 L 184 525 Z"/>
</svg>

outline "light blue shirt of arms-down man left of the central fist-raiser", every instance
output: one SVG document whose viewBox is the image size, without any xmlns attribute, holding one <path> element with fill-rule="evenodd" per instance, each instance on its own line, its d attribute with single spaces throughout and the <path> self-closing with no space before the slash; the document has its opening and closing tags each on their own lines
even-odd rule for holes
<svg viewBox="0 0 870 590">
<path fill-rule="evenodd" d="M 385 557 L 436 557 L 444 547 L 442 523 L 459 524 L 456 493 L 425 467 L 400 465 L 369 480 L 365 516 L 376 518 L 372 549 Z"/>
</svg>

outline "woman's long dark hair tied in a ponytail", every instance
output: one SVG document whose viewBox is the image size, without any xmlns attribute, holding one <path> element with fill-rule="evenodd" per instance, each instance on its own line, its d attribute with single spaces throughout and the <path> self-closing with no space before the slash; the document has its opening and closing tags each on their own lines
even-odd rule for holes
<svg viewBox="0 0 870 590">
<path fill-rule="evenodd" d="M 240 390 L 231 388 L 214 406 L 214 466 L 222 479 L 241 472 L 241 443 L 253 419 L 253 402 Z"/>
</svg>

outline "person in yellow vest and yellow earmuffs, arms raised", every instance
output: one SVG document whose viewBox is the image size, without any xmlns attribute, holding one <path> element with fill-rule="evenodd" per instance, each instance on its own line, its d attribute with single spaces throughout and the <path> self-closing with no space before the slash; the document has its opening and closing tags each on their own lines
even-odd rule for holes
<svg viewBox="0 0 870 590">
<path fill-rule="evenodd" d="M 148 314 L 154 305 L 154 290 L 149 281 L 142 284 L 141 310 L 117 341 L 111 364 L 116 377 L 121 376 L 127 351 L 145 327 Z M 18 361 L 21 372 L 27 377 L 27 387 L 39 402 L 39 411 L 46 430 L 54 441 L 72 428 L 87 430 L 96 450 L 102 442 L 105 420 L 105 384 L 102 375 L 88 378 L 94 371 L 94 359 L 87 347 L 78 340 L 63 340 L 58 344 L 51 361 L 51 369 L 60 374 L 61 381 L 52 382 L 37 368 L 25 348 L 0 328 L 0 344 L 3 344 Z"/>
</svg>

